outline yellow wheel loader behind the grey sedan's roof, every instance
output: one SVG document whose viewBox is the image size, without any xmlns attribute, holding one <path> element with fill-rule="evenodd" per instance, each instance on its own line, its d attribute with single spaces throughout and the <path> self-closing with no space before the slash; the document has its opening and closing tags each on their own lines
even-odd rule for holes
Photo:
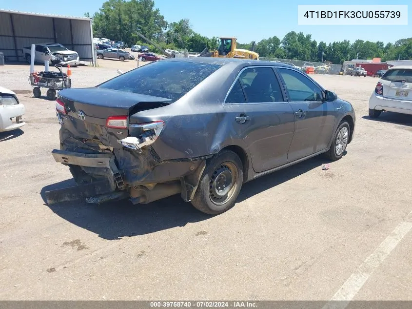
<svg viewBox="0 0 412 309">
<path fill-rule="evenodd" d="M 259 60 L 259 54 L 247 49 L 236 48 L 236 38 L 220 37 L 217 50 L 208 52 L 205 48 L 199 57 L 239 58 Z"/>
</svg>

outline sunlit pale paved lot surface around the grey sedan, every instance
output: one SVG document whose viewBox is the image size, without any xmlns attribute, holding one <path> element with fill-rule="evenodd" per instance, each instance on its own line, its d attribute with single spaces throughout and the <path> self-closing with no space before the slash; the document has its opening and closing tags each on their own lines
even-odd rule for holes
<svg viewBox="0 0 412 309">
<path fill-rule="evenodd" d="M 73 87 L 136 66 L 72 68 Z M 0 134 L 1 300 L 412 300 L 412 116 L 369 118 L 377 79 L 315 75 L 355 108 L 346 155 L 247 183 L 213 217 L 179 196 L 46 206 L 45 191 L 74 183 L 51 156 L 55 103 L 33 97 L 28 75 L 0 66 L 26 106 L 26 125 Z"/>
</svg>

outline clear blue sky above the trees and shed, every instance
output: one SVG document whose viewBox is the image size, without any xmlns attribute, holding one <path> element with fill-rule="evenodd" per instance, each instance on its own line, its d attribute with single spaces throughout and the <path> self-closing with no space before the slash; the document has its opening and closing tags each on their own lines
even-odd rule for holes
<svg viewBox="0 0 412 309">
<path fill-rule="evenodd" d="M 59 2 L 59 1 L 58 1 Z M 82 17 L 93 15 L 103 0 L 70 0 L 69 6 L 56 0 L 0 0 L 0 9 L 58 14 Z M 332 3 L 331 3 L 332 2 Z M 298 25 L 297 5 L 325 4 L 404 4 L 408 6 L 408 25 Z M 410 0 L 155 0 L 166 21 L 189 19 L 193 29 L 207 37 L 236 37 L 238 42 L 249 43 L 276 36 L 283 39 L 289 31 L 312 34 L 312 39 L 324 41 L 359 39 L 364 41 L 395 42 L 412 37 L 412 2 Z M 113 38 L 116 40 L 116 38 Z"/>
</svg>

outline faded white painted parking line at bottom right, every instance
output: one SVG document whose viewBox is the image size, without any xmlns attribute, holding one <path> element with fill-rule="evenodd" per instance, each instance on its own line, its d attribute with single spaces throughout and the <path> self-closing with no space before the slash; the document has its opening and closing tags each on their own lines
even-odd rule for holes
<svg viewBox="0 0 412 309">
<path fill-rule="evenodd" d="M 405 218 L 411 220 L 412 211 Z M 372 275 L 373 271 L 385 260 L 392 250 L 399 244 L 402 238 L 412 229 L 412 222 L 401 222 L 392 233 L 368 256 L 368 258 L 356 269 L 355 272 L 346 280 L 341 288 L 334 294 L 330 302 L 322 309 L 344 309 L 349 301 L 362 288 L 366 280 Z"/>
</svg>

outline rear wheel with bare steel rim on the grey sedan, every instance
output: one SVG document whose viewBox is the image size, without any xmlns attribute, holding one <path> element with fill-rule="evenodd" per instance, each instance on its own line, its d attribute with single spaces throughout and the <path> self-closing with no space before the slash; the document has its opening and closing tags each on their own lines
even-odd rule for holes
<svg viewBox="0 0 412 309">
<path fill-rule="evenodd" d="M 231 184 L 227 183 L 228 179 L 232 179 Z M 233 151 L 223 150 L 206 164 L 191 203 L 197 210 L 210 215 L 223 213 L 235 205 L 242 184 L 242 161 Z M 218 185 L 227 185 L 227 187 L 218 192 L 220 188 Z"/>
</svg>

